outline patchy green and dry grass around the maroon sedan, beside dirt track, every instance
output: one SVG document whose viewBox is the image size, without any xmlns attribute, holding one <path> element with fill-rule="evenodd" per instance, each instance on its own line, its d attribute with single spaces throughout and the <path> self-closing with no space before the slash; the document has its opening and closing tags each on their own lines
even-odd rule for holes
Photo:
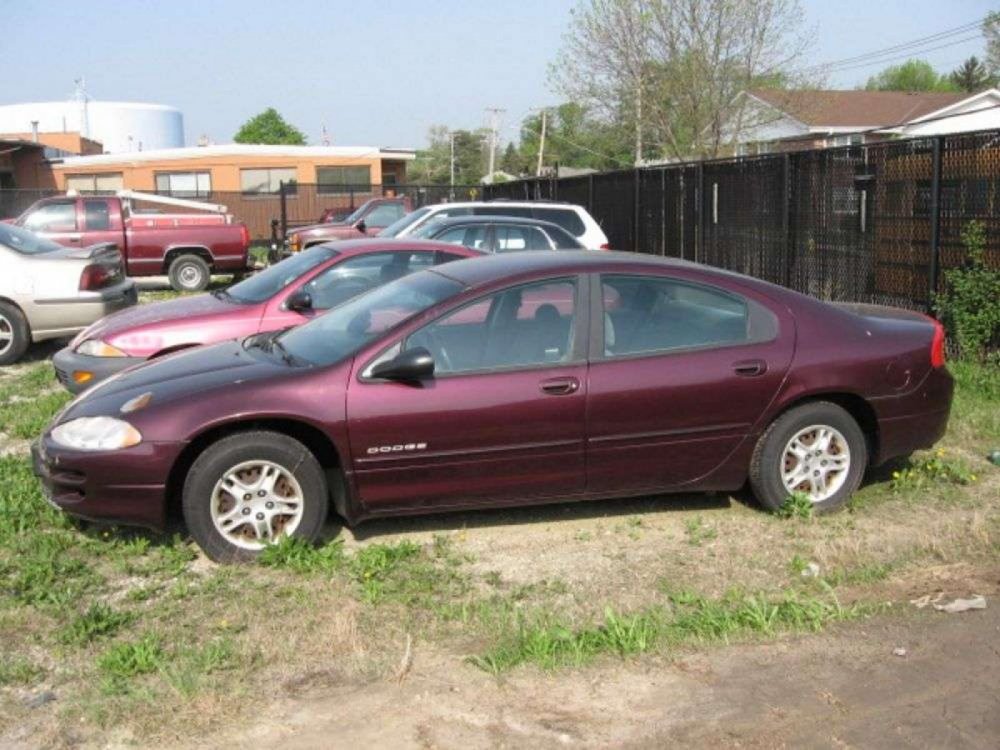
<svg viewBox="0 0 1000 750">
<path fill-rule="evenodd" d="M 565 539 L 560 519 L 533 524 L 531 544 L 552 541 L 527 550 L 519 532 L 494 536 L 485 524 L 469 535 L 475 555 L 464 531 L 431 535 L 414 522 L 400 524 L 406 538 L 282 540 L 258 566 L 215 567 L 182 536 L 70 522 L 44 501 L 16 446 L 0 456 L 0 685 L 51 686 L 52 722 L 91 739 L 127 726 L 144 744 L 164 713 L 200 736 L 311 670 L 391 676 L 409 634 L 416 648 L 476 654 L 479 668 L 502 673 L 864 617 L 877 611 L 866 602 L 891 598 L 885 587 L 912 571 L 1000 552 L 990 494 L 1000 469 L 982 458 L 1000 447 L 1000 375 L 951 367 L 945 454 L 916 454 L 900 477 L 869 483 L 849 513 L 776 523 L 740 505 L 646 502 L 615 516 L 607 504 L 612 520 L 577 521 Z M 0 373 L 0 430 L 31 439 L 67 398 L 47 363 Z M 790 501 L 786 515 L 803 517 L 800 506 Z M 809 561 L 816 577 L 801 576 Z M 674 585 L 658 587 L 661 578 Z M 26 711 L 0 690 L 0 744 Z"/>
</svg>

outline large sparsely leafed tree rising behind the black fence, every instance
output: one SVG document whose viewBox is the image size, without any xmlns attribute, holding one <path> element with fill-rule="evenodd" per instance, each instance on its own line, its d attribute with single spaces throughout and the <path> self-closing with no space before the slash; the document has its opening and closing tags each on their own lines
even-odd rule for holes
<svg viewBox="0 0 1000 750">
<path fill-rule="evenodd" d="M 627 122 L 637 163 L 718 156 L 753 118 L 741 92 L 795 80 L 801 26 L 798 0 L 584 0 L 552 79 Z"/>
</svg>

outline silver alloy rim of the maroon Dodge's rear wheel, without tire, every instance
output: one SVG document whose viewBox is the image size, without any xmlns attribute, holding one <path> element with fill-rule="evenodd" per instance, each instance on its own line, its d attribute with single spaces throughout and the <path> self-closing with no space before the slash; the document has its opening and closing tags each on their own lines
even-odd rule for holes
<svg viewBox="0 0 1000 750">
<path fill-rule="evenodd" d="M 836 494 L 851 470 L 851 449 L 839 430 L 810 425 L 799 430 L 782 453 L 781 481 L 789 493 L 804 492 L 814 503 Z"/>
</svg>

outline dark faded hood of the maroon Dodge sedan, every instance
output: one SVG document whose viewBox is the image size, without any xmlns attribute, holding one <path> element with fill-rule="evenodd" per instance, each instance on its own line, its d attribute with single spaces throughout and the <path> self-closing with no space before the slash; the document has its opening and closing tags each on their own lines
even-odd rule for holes
<svg viewBox="0 0 1000 750">
<path fill-rule="evenodd" d="M 150 393 L 152 403 L 162 406 L 302 369 L 260 349 L 248 350 L 243 341 L 188 349 L 124 370 L 85 391 L 57 421 L 118 414 L 122 404 L 143 393 Z"/>
</svg>

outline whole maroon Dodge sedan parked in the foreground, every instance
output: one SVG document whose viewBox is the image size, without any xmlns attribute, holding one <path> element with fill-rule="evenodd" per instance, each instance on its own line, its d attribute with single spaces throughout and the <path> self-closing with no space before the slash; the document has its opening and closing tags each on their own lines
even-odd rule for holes
<svg viewBox="0 0 1000 750">
<path fill-rule="evenodd" d="M 457 508 L 732 491 L 843 505 L 944 433 L 939 324 L 620 253 L 450 263 L 97 386 L 34 448 L 52 500 L 216 560 Z"/>
</svg>

